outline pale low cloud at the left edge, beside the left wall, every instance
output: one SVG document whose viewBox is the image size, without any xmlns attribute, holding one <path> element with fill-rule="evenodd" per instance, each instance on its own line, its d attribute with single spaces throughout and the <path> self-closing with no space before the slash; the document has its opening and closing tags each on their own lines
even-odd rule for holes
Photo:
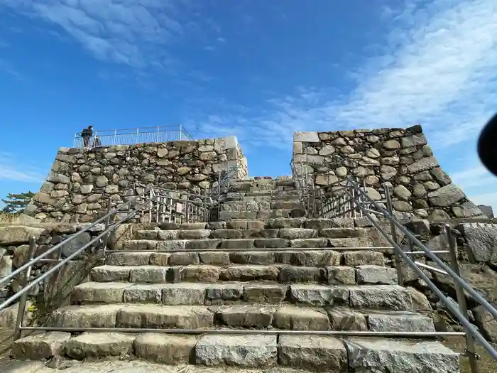
<svg viewBox="0 0 497 373">
<path fill-rule="evenodd" d="M 0 152 L 0 180 L 39 184 L 45 178 L 46 175 L 39 168 L 18 161 L 11 153 Z"/>
</svg>

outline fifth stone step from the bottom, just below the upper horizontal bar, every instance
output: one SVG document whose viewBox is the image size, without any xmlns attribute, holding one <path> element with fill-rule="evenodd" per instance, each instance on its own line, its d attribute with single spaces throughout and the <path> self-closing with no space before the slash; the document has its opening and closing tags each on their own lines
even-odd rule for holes
<svg viewBox="0 0 497 373">
<path fill-rule="evenodd" d="M 337 248 L 335 248 L 337 249 Z M 107 256 L 110 266 L 178 266 L 209 264 L 290 264 L 292 266 L 383 266 L 385 256 L 370 250 L 271 250 L 229 252 L 229 249 L 215 252 L 114 252 Z"/>
</svg>

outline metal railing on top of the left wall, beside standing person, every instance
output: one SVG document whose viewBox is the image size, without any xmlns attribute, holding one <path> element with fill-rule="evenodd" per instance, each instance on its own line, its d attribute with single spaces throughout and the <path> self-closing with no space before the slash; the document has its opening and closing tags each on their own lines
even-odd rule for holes
<svg viewBox="0 0 497 373">
<path fill-rule="evenodd" d="M 131 129 L 104 129 L 84 137 L 76 132 L 74 148 L 98 148 L 100 146 L 163 143 L 193 140 L 182 124 L 178 126 L 154 126 Z"/>
</svg>

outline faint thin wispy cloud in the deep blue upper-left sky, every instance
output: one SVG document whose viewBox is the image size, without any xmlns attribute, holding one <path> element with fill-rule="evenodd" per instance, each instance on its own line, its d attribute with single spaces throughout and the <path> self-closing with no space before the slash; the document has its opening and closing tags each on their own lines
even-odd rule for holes
<svg viewBox="0 0 497 373">
<path fill-rule="evenodd" d="M 60 26 L 100 60 L 146 67 L 167 58 L 160 45 L 183 35 L 184 0 L 0 0 L 17 13 Z"/>
</svg>

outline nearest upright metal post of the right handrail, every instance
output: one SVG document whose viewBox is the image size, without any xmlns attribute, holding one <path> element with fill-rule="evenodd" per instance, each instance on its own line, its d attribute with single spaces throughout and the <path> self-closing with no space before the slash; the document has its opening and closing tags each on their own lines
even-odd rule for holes
<svg viewBox="0 0 497 373">
<path fill-rule="evenodd" d="M 454 271 L 457 276 L 461 276 L 459 271 L 459 261 L 457 260 L 457 242 L 452 234 L 452 229 L 450 225 L 446 224 L 444 226 L 445 237 L 447 238 L 447 245 L 449 246 L 450 252 L 450 264 L 452 271 Z M 469 320 L 468 308 L 466 306 L 466 297 L 464 296 L 464 289 L 454 281 L 454 287 L 456 288 L 457 303 L 459 303 L 459 311 L 461 314 Z M 480 369 L 478 367 L 479 356 L 476 354 L 476 346 L 474 342 L 474 337 L 471 335 L 470 330 L 464 330 L 466 332 L 466 356 L 469 359 L 469 367 L 471 373 L 479 373 Z"/>
</svg>

